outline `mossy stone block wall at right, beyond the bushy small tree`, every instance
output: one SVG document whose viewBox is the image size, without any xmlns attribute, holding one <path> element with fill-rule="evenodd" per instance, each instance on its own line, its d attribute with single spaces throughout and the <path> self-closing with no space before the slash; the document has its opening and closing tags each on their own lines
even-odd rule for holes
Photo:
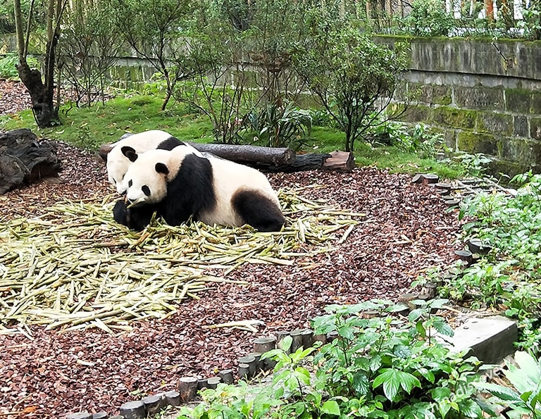
<svg viewBox="0 0 541 419">
<path fill-rule="evenodd" d="M 541 42 L 378 37 L 404 41 L 402 120 L 443 132 L 455 151 L 495 156 L 495 172 L 541 171 Z"/>
</svg>

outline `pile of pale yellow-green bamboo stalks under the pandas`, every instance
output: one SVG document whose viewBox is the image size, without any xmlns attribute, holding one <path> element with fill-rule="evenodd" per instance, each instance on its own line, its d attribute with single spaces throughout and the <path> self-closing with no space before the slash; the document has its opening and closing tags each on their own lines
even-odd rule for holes
<svg viewBox="0 0 541 419">
<path fill-rule="evenodd" d="M 0 333 L 32 324 L 114 332 L 128 320 L 163 318 L 215 282 L 242 283 L 227 276 L 244 263 L 288 265 L 327 251 L 363 216 L 298 191 L 280 192 L 280 201 L 287 225 L 279 233 L 159 220 L 132 232 L 114 222 L 111 196 L 10 220 L 0 232 Z"/>
</svg>

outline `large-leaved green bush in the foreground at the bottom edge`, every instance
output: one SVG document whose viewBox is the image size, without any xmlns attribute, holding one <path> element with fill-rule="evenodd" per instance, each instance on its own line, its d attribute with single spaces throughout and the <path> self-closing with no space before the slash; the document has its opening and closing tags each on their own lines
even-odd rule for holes
<svg viewBox="0 0 541 419">
<path fill-rule="evenodd" d="M 220 384 L 203 392 L 204 404 L 182 408 L 179 418 L 482 418 L 471 385 L 480 380 L 480 363 L 428 338 L 430 327 L 450 332 L 430 314 L 443 303 L 423 303 L 409 321 L 392 315 L 404 306 L 390 301 L 328 306 L 313 327 L 316 334 L 335 334 L 331 343 L 288 354 L 286 338 L 262 356 L 277 361 L 272 384 Z M 378 316 L 363 318 L 362 311 Z"/>
</svg>

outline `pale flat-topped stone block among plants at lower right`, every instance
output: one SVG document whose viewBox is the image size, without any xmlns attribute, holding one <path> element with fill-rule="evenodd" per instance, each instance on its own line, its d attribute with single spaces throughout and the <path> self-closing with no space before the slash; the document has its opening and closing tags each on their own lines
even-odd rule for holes
<svg viewBox="0 0 541 419">
<path fill-rule="evenodd" d="M 458 351 L 471 348 L 471 355 L 484 363 L 499 363 L 513 354 L 518 327 L 513 320 L 500 315 L 470 318 L 454 331 L 452 344 Z"/>
</svg>

